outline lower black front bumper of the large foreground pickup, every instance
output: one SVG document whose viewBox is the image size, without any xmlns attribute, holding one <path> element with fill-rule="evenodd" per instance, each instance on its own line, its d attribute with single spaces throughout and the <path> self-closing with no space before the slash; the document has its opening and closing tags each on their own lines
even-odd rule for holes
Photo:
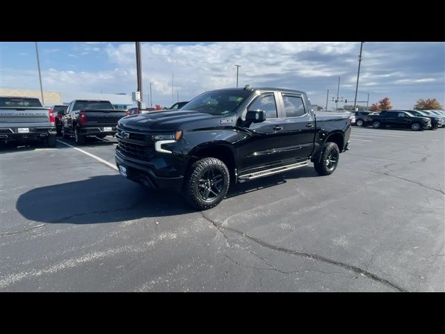
<svg viewBox="0 0 445 334">
<path fill-rule="evenodd" d="M 152 168 L 135 161 L 129 161 L 125 157 L 120 156 L 118 152 L 115 154 L 116 166 L 124 166 L 127 169 L 127 178 L 154 189 L 181 189 L 184 176 L 179 177 L 159 177 Z"/>
</svg>

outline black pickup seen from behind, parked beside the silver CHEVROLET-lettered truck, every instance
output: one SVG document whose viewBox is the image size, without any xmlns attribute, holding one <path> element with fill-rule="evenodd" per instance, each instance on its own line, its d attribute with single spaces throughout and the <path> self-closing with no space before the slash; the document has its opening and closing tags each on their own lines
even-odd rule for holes
<svg viewBox="0 0 445 334">
<path fill-rule="evenodd" d="M 77 145 L 85 144 L 87 136 L 114 136 L 118 120 L 124 116 L 126 111 L 114 109 L 109 101 L 74 100 L 62 117 L 62 136 L 74 136 Z"/>
</svg>

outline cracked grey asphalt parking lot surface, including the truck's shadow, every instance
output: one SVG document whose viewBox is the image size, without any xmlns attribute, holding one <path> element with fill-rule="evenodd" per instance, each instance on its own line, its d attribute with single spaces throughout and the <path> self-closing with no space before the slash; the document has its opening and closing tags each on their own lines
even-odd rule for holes
<svg viewBox="0 0 445 334">
<path fill-rule="evenodd" d="M 120 176 L 115 138 L 58 141 L 1 148 L 2 292 L 445 291 L 445 129 L 355 127 L 334 174 L 205 212 Z"/>
</svg>

